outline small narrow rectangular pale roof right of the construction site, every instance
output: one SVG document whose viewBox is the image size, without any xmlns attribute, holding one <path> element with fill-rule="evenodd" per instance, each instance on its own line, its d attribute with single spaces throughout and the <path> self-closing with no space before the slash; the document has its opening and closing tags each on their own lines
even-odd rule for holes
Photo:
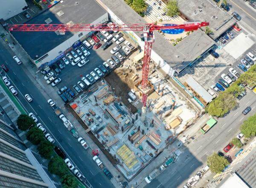
<svg viewBox="0 0 256 188">
<path fill-rule="evenodd" d="M 211 102 L 213 97 L 205 88 L 203 88 L 192 76 L 185 81 L 194 91 L 196 91 L 207 103 Z"/>
</svg>

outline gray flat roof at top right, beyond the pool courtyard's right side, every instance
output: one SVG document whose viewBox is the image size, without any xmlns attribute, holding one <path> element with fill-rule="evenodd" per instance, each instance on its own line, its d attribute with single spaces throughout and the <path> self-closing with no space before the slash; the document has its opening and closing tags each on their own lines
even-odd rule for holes
<svg viewBox="0 0 256 188">
<path fill-rule="evenodd" d="M 213 0 L 210 2 L 208 0 L 190 0 L 189 5 L 187 0 L 178 0 L 178 6 L 187 19 L 209 22 L 209 27 L 213 31 L 210 37 L 213 40 L 236 23 L 236 20 L 226 11 L 221 10 Z M 202 29 L 204 30 L 204 28 Z"/>
</svg>

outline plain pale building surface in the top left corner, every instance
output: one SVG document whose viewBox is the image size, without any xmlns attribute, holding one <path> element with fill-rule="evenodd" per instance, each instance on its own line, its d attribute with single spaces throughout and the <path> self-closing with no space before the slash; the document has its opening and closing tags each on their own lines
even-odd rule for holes
<svg viewBox="0 0 256 188">
<path fill-rule="evenodd" d="M 25 0 L 0 0 L 0 19 L 7 20 L 22 12 L 23 8 L 27 6 Z"/>
</svg>

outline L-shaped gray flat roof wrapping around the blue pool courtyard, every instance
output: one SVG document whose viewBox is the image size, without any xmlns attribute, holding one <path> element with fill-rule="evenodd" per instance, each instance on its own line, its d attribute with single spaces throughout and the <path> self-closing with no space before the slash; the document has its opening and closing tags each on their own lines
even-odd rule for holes
<svg viewBox="0 0 256 188">
<path fill-rule="evenodd" d="M 146 21 L 129 7 L 123 0 L 97 0 L 108 7 L 123 23 L 146 23 Z M 203 20 L 202 20 L 203 21 Z M 140 31 L 134 31 L 140 36 Z M 153 50 L 179 73 L 190 62 L 210 48 L 214 41 L 201 30 L 195 31 L 173 46 L 158 32 L 155 34 Z"/>
</svg>

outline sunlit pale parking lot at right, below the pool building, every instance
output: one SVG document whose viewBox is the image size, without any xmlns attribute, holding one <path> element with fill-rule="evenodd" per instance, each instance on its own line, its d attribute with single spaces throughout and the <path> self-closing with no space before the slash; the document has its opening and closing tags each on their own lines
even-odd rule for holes
<svg viewBox="0 0 256 188">
<path fill-rule="evenodd" d="M 236 40 L 238 32 L 232 30 L 235 37 L 233 39 L 227 40 L 225 44 L 217 42 L 215 46 L 215 52 L 219 54 L 220 57 L 214 58 L 211 54 L 207 53 L 202 56 L 196 63 L 187 67 L 178 77 L 181 82 L 185 81 L 189 75 L 195 78 L 206 90 L 210 88 L 211 85 L 218 82 L 221 78 L 221 74 L 227 74 L 230 67 L 234 68 L 239 74 L 243 71 L 238 67 L 248 52 L 256 55 L 256 44 L 255 41 L 247 37 L 244 33 L 241 33 L 241 39 Z M 244 46 L 243 37 L 250 40 L 252 46 Z M 234 46 L 229 48 L 230 45 Z M 239 56 L 239 57 L 237 57 Z"/>
</svg>

